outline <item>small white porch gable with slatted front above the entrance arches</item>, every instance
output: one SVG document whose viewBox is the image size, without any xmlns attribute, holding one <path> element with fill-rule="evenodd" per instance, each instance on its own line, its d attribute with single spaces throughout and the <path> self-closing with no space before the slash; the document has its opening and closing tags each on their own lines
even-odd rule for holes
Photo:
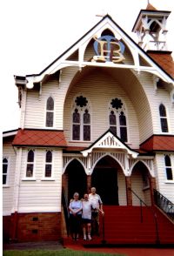
<svg viewBox="0 0 174 256">
<path fill-rule="evenodd" d="M 104 134 L 97 138 L 87 149 L 81 151 L 84 157 L 87 157 L 93 149 L 117 149 L 120 152 L 127 152 L 132 158 L 137 158 L 138 152 L 131 150 L 120 138 L 117 137 L 110 129 L 105 131 Z"/>
</svg>

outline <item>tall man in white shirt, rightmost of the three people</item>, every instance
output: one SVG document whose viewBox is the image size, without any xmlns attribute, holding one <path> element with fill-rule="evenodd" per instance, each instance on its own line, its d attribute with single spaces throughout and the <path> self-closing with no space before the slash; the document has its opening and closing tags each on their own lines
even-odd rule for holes
<svg viewBox="0 0 174 256">
<path fill-rule="evenodd" d="M 89 200 L 92 205 L 92 230 L 99 234 L 99 212 L 102 212 L 104 215 L 103 202 L 100 196 L 96 193 L 95 187 L 91 187 L 90 191 Z"/>
</svg>

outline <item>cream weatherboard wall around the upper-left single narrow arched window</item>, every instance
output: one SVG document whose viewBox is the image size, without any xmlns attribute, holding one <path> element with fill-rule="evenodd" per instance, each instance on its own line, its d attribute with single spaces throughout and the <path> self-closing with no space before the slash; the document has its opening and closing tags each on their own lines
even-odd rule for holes
<svg viewBox="0 0 174 256">
<path fill-rule="evenodd" d="M 50 80 L 45 84 L 43 83 L 40 96 L 39 91 L 28 90 L 24 128 L 63 130 L 64 98 L 76 72 L 77 68 L 64 68 L 62 70 L 61 82 L 58 83 L 57 80 Z M 49 97 L 54 99 L 55 104 L 54 125 L 51 128 L 45 126 L 46 101 Z"/>
</svg>

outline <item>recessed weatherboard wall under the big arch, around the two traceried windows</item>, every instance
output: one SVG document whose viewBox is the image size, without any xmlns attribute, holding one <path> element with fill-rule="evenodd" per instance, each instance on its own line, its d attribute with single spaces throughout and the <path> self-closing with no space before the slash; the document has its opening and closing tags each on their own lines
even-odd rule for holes
<svg viewBox="0 0 174 256">
<path fill-rule="evenodd" d="M 71 106 L 77 96 L 83 95 L 89 100 L 91 115 L 91 141 L 95 141 L 109 129 L 109 106 L 113 98 L 121 98 L 127 113 L 129 143 L 133 148 L 139 145 L 138 122 L 136 112 L 128 95 L 121 86 L 104 71 L 92 71 L 87 77 L 75 84 L 64 103 L 64 133 L 70 145 L 71 141 Z M 80 142 L 80 145 L 84 143 Z"/>
</svg>

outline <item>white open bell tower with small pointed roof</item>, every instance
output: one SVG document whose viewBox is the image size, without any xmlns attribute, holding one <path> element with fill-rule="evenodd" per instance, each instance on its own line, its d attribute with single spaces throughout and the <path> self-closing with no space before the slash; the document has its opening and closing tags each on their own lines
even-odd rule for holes
<svg viewBox="0 0 174 256">
<path fill-rule="evenodd" d="M 132 31 L 137 33 L 138 44 L 144 51 L 168 51 L 166 24 L 170 13 L 157 10 L 149 1 L 146 9 L 140 10 Z"/>
</svg>

